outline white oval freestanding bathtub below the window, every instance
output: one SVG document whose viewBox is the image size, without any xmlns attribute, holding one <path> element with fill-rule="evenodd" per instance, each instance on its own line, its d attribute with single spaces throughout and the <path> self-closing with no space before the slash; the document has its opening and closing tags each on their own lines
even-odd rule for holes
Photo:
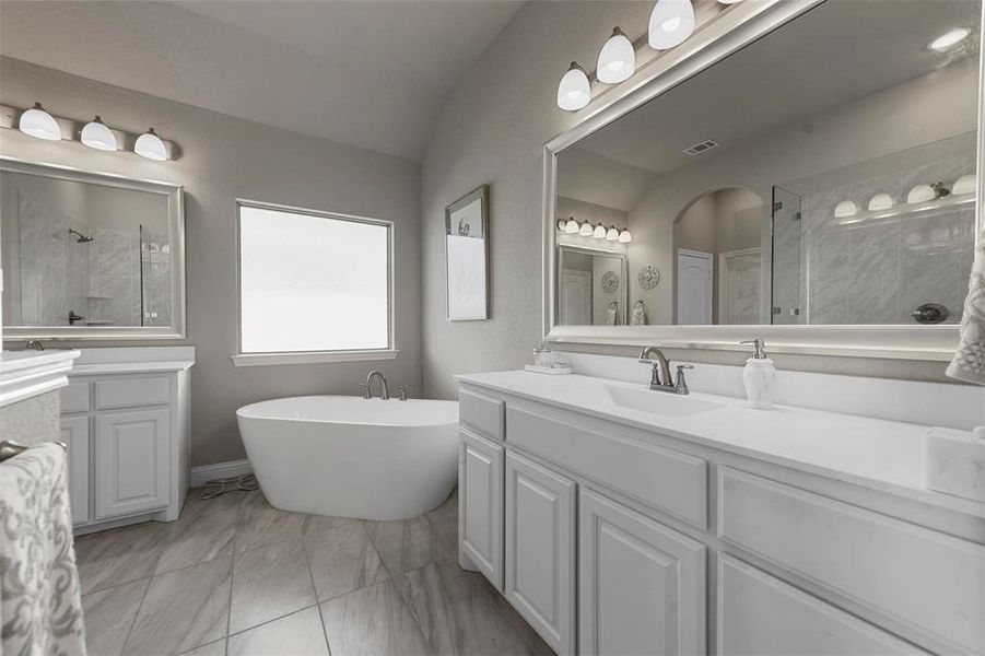
<svg viewBox="0 0 985 656">
<path fill-rule="evenodd" d="M 236 411 L 260 488 L 284 511 L 407 519 L 458 477 L 458 403 L 314 396 Z"/>
</svg>

